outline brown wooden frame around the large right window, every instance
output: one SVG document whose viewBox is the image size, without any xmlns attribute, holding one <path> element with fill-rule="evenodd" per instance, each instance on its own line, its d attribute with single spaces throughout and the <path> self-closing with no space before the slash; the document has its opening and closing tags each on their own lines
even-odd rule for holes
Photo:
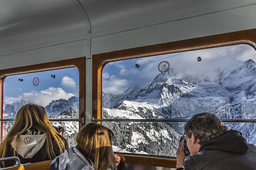
<svg viewBox="0 0 256 170">
<path fill-rule="evenodd" d="M 92 56 L 92 118 L 102 119 L 102 70 L 107 62 L 127 60 L 137 57 L 149 57 L 152 55 L 164 55 L 166 53 L 186 52 L 191 50 L 202 50 L 212 47 L 227 45 L 247 44 L 256 49 L 256 29 L 240 30 L 233 33 L 210 35 L 201 38 L 178 40 L 157 45 L 135 47 L 127 50 L 105 52 Z M 175 168 L 176 159 L 158 158 L 157 156 L 143 156 L 125 154 L 124 162 L 130 164 L 146 164 L 151 166 L 164 166 Z M 138 161 L 139 157 L 139 161 Z M 149 161 L 149 159 L 151 159 Z M 156 161 L 159 160 L 159 161 Z M 127 161 L 129 160 L 129 161 Z"/>
</svg>

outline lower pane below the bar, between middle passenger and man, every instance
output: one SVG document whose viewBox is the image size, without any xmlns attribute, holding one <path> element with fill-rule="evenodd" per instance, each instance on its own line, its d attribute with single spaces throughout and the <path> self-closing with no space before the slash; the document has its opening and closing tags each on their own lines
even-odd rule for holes
<svg viewBox="0 0 256 170">
<path fill-rule="evenodd" d="M 102 125 L 114 132 L 112 140 L 115 152 L 154 154 L 176 157 L 180 135 L 175 127 L 180 123 L 134 123 L 104 122 Z M 182 123 L 183 124 L 183 123 Z"/>
</svg>

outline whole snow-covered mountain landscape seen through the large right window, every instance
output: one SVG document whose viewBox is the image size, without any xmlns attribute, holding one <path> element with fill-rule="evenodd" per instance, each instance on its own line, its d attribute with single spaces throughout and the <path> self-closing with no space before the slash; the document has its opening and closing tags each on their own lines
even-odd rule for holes
<svg viewBox="0 0 256 170">
<path fill-rule="evenodd" d="M 235 69 L 227 67 L 225 70 L 215 70 L 213 77 L 203 78 L 189 74 L 186 74 L 186 77 L 178 77 L 174 69 L 169 69 L 168 72 L 158 74 L 142 89 L 129 89 L 119 96 L 103 93 L 104 117 L 189 119 L 196 113 L 210 112 L 221 119 L 256 119 L 256 63 L 253 60 L 240 61 L 238 66 Z M 255 123 L 225 124 L 230 129 L 240 130 L 248 142 L 256 144 Z M 117 136 L 115 148 L 124 152 L 175 155 L 180 137 L 178 133 L 183 132 L 183 123 L 106 125 L 112 128 Z M 158 126 L 161 128 L 157 128 Z M 166 128 L 167 126 L 169 128 Z M 150 135 L 151 132 L 154 132 L 154 135 Z M 156 137 L 158 140 L 154 140 Z M 120 142 L 122 140 L 125 141 Z M 156 141 L 155 145 L 153 141 Z M 162 145 L 161 142 L 171 145 L 156 149 Z"/>
</svg>

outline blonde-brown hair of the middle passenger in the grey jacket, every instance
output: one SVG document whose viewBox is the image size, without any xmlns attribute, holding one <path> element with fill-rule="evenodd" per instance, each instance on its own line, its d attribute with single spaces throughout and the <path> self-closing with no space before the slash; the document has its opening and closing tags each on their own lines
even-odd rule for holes
<svg viewBox="0 0 256 170">
<path fill-rule="evenodd" d="M 111 139 L 113 132 L 98 123 L 85 125 L 78 133 L 78 147 L 94 162 L 95 170 L 116 169 Z"/>
</svg>

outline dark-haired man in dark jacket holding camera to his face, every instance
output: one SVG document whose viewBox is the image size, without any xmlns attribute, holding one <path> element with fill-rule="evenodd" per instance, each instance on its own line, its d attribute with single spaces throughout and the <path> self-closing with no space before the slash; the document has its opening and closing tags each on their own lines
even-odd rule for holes
<svg viewBox="0 0 256 170">
<path fill-rule="evenodd" d="M 177 170 L 256 169 L 256 147 L 237 130 L 228 130 L 210 113 L 193 115 L 184 127 L 186 139 L 178 146 Z M 184 153 L 184 142 L 191 153 Z"/>
</svg>

